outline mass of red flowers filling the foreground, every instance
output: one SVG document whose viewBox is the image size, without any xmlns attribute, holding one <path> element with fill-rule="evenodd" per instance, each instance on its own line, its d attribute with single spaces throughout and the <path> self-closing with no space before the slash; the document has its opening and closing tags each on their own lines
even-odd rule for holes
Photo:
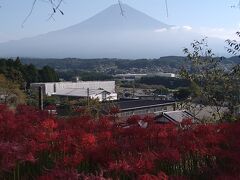
<svg viewBox="0 0 240 180">
<path fill-rule="evenodd" d="M 139 126 L 139 120 L 147 128 Z M 0 106 L 1 179 L 238 179 L 239 122 L 159 125 L 132 117 L 56 119 Z"/>
</svg>

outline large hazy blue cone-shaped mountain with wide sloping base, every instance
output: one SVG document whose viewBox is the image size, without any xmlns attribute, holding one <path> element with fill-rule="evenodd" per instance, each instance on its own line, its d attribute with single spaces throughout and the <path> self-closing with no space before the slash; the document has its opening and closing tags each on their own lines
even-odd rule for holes
<svg viewBox="0 0 240 180">
<path fill-rule="evenodd" d="M 182 49 L 202 38 L 187 27 L 160 22 L 126 4 L 112 5 L 65 29 L 0 44 L 1 57 L 36 58 L 158 58 L 182 55 Z M 223 50 L 223 42 L 211 39 Z"/>
</svg>

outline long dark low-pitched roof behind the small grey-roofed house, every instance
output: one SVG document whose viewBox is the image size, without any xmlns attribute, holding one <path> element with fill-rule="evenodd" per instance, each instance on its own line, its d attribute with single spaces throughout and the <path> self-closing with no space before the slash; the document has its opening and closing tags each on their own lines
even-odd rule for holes
<svg viewBox="0 0 240 180">
<path fill-rule="evenodd" d="M 165 100 L 120 100 L 114 102 L 114 105 L 117 106 L 120 111 L 149 108 L 154 106 L 163 106 L 163 105 L 173 105 L 175 101 L 165 101 Z"/>
</svg>

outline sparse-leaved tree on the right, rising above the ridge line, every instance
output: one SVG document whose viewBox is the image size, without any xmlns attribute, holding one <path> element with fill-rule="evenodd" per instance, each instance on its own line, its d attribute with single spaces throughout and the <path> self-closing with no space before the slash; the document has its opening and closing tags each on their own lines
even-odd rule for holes
<svg viewBox="0 0 240 180">
<path fill-rule="evenodd" d="M 209 106 L 213 119 L 222 119 L 223 111 L 234 115 L 234 108 L 239 105 L 240 68 L 235 66 L 226 71 L 221 66 L 221 59 L 214 57 L 206 39 L 194 41 L 192 51 L 185 48 L 188 66 L 181 70 L 181 76 L 191 81 L 198 89 L 192 102 Z M 198 98 L 198 101 L 196 101 Z"/>
</svg>

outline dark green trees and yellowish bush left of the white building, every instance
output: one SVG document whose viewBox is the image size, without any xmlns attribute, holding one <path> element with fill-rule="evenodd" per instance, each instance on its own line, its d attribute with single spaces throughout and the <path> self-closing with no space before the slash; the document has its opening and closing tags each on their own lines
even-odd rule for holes
<svg viewBox="0 0 240 180">
<path fill-rule="evenodd" d="M 0 103 L 12 107 L 27 103 L 32 99 L 28 93 L 30 83 L 54 81 L 59 81 L 58 74 L 49 66 L 38 69 L 22 64 L 19 58 L 0 59 Z"/>
</svg>

